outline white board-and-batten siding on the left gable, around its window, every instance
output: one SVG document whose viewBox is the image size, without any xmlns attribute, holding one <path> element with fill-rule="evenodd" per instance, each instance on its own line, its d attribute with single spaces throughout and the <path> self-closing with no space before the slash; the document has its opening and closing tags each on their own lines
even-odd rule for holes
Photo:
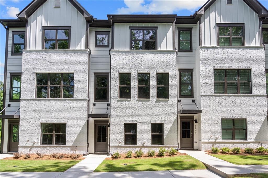
<svg viewBox="0 0 268 178">
<path fill-rule="evenodd" d="M 85 49 L 86 21 L 69 1 L 46 1 L 28 18 L 27 49 L 42 49 L 42 26 L 71 26 L 70 49 Z"/>
</svg>

